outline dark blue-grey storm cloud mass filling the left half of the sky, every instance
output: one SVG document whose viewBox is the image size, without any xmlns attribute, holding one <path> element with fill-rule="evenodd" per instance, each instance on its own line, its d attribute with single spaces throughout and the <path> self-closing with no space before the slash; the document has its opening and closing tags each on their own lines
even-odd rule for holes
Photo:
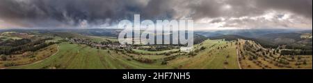
<svg viewBox="0 0 313 83">
<path fill-rule="evenodd" d="M 99 25 L 132 19 L 134 14 L 149 19 L 171 18 L 173 13 L 166 0 L 1 0 L 0 3 L 1 19 L 20 24 L 26 20 L 29 25 L 42 26 L 47 26 L 45 23 L 79 26 L 82 21 Z"/>
</svg>

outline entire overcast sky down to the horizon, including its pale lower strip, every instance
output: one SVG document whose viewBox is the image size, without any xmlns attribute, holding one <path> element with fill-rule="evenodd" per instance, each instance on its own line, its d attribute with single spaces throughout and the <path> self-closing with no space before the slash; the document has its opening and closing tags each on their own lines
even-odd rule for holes
<svg viewBox="0 0 313 83">
<path fill-rule="evenodd" d="M 122 19 L 193 19 L 196 30 L 312 29 L 312 0 L 0 0 L 0 28 L 115 28 Z"/>
</svg>

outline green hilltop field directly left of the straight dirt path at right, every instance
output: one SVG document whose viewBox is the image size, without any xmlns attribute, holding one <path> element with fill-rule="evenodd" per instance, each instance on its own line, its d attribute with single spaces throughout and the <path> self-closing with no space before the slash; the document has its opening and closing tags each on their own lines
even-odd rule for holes
<svg viewBox="0 0 313 83">
<path fill-rule="evenodd" d="M 231 46 L 230 42 L 207 39 L 201 44 L 195 45 L 195 48 L 204 46 L 206 49 L 200 50 L 193 57 L 178 57 L 169 65 L 179 65 L 179 68 L 239 68 L 236 62 L 236 47 Z M 220 49 L 217 49 L 218 47 Z"/>
</svg>

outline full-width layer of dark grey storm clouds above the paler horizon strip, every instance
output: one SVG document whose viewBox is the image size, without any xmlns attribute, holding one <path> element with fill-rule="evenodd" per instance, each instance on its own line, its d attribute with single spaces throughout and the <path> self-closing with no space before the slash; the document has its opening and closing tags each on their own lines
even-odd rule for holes
<svg viewBox="0 0 313 83">
<path fill-rule="evenodd" d="M 266 10 L 312 19 L 312 0 L 0 0 L 0 20 L 27 27 L 97 26 L 134 14 L 141 19 L 254 17 Z"/>
</svg>

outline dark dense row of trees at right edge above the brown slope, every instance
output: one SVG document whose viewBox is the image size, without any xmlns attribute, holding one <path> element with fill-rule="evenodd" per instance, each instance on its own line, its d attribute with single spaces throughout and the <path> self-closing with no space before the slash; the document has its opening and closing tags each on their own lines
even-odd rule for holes
<svg viewBox="0 0 313 83">
<path fill-rule="evenodd" d="M 280 50 L 280 55 L 312 55 L 312 50 Z"/>
</svg>

